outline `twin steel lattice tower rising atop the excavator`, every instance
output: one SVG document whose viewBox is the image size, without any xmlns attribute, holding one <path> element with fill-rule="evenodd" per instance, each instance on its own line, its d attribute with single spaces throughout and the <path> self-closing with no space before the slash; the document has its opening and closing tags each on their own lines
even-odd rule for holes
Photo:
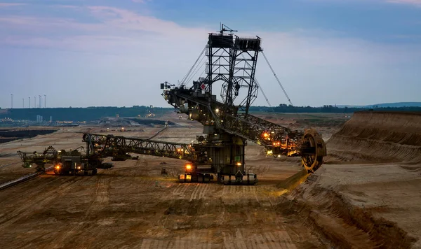
<svg viewBox="0 0 421 249">
<path fill-rule="evenodd" d="M 229 34 L 224 33 L 229 31 Z M 236 106 L 239 111 L 248 113 L 250 104 L 258 95 L 258 85 L 255 83 L 255 69 L 258 54 L 262 51 L 260 37 L 240 38 L 234 36 L 224 24 L 221 25 L 220 33 L 211 33 L 206 45 L 207 77 L 206 91 L 212 93 L 212 85 L 222 81 L 221 97 L 227 106 Z M 244 99 L 236 101 L 241 88 L 247 88 L 248 92 Z"/>
</svg>

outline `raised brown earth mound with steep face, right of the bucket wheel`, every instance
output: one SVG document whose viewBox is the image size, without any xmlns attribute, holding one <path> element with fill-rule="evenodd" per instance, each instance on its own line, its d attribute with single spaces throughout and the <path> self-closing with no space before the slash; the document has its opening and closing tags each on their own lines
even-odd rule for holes
<svg viewBox="0 0 421 249">
<path fill-rule="evenodd" d="M 328 164 L 421 162 L 421 113 L 356 112 L 326 146 Z"/>
</svg>

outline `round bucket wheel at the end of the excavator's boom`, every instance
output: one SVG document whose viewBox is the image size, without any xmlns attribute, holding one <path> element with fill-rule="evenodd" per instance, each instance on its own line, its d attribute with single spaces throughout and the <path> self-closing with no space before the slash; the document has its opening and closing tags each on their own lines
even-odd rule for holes
<svg viewBox="0 0 421 249">
<path fill-rule="evenodd" d="M 304 136 L 302 136 L 300 155 L 302 166 L 305 167 L 307 173 L 314 173 L 323 164 L 323 157 L 326 156 L 326 144 L 315 129 L 305 130 Z"/>
</svg>

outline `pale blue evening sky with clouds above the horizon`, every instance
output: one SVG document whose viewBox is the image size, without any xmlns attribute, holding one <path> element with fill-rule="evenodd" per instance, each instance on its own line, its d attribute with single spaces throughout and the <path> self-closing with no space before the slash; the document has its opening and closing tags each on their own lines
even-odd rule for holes
<svg viewBox="0 0 421 249">
<path fill-rule="evenodd" d="M 0 0 L 0 107 L 168 106 L 220 22 L 262 37 L 295 105 L 421 101 L 421 0 Z M 262 58 L 256 77 L 287 103 Z"/>
</svg>

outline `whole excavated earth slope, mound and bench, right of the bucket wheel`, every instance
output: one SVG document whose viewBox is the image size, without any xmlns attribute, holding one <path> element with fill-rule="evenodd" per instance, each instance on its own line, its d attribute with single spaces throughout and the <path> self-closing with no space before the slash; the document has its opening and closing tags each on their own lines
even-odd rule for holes
<svg viewBox="0 0 421 249">
<path fill-rule="evenodd" d="M 354 113 L 289 198 L 333 248 L 421 248 L 421 113 Z"/>
</svg>

